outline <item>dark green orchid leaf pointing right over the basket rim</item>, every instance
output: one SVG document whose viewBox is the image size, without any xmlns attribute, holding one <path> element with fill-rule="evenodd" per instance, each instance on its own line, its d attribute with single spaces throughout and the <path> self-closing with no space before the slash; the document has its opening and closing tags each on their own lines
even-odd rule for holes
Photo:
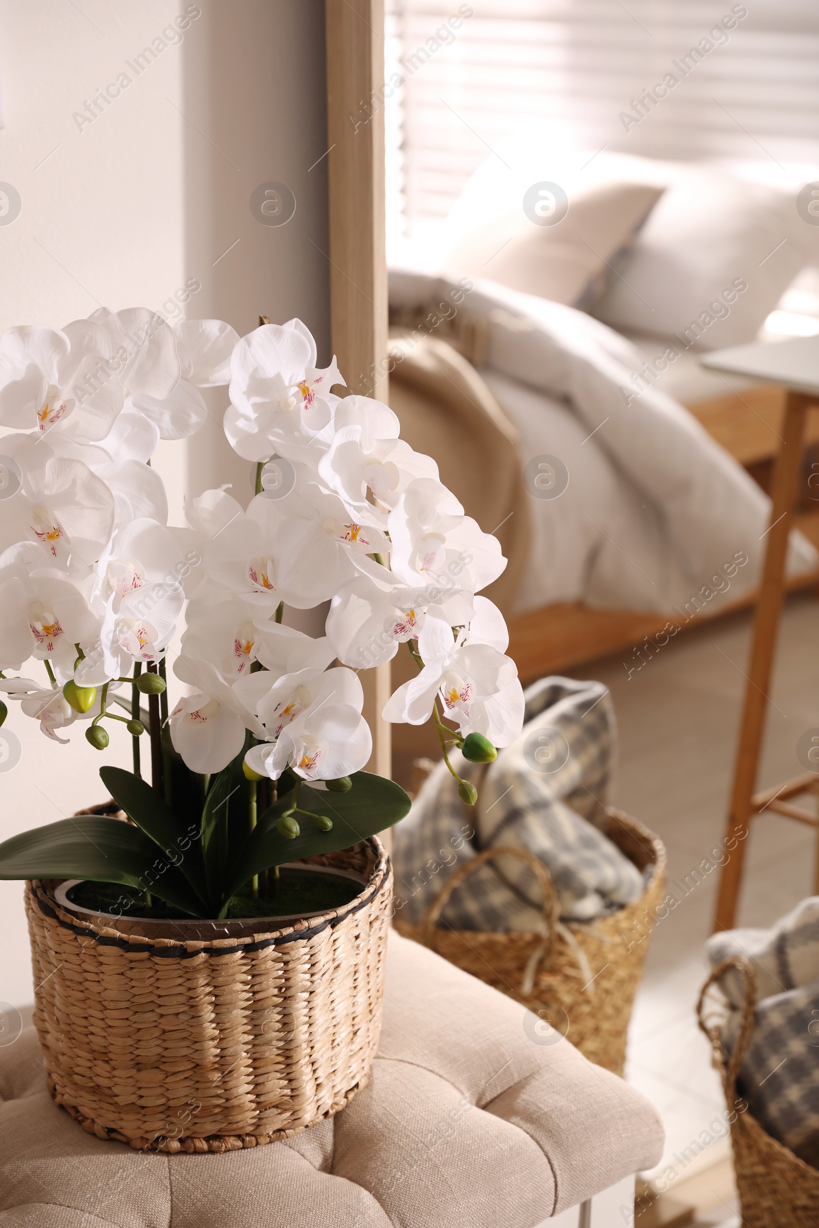
<svg viewBox="0 0 819 1228">
<path fill-rule="evenodd" d="M 297 814 L 301 833 L 295 840 L 290 840 L 276 829 L 276 823 L 292 804 L 292 796 L 280 798 L 270 806 L 244 842 L 238 858 L 232 860 L 225 899 L 263 869 L 280 866 L 285 861 L 301 861 L 302 857 L 316 853 L 349 849 L 409 814 L 410 798 L 394 781 L 366 771 L 355 772 L 351 780 L 352 787 L 346 793 L 311 788 L 306 783 L 300 788 L 300 809 L 327 815 L 333 820 L 329 831 L 323 831 L 307 815 Z"/>
</svg>

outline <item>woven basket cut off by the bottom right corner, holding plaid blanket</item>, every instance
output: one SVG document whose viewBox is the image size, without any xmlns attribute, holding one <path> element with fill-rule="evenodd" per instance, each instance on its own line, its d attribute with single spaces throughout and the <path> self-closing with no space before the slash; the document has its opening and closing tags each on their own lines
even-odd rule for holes
<svg viewBox="0 0 819 1228">
<path fill-rule="evenodd" d="M 745 997 L 739 1034 L 726 1062 L 721 1029 L 705 1020 L 705 996 L 729 968 L 743 979 Z M 700 1028 L 713 1047 L 713 1066 L 720 1072 L 729 1110 L 731 1146 L 742 1219 L 748 1228 L 817 1228 L 819 1224 L 819 1170 L 805 1164 L 792 1151 L 772 1138 L 751 1116 L 747 1102 L 737 1092 L 756 1009 L 756 980 L 747 959 L 726 959 L 713 969 L 702 986 L 696 1014 Z"/>
</svg>

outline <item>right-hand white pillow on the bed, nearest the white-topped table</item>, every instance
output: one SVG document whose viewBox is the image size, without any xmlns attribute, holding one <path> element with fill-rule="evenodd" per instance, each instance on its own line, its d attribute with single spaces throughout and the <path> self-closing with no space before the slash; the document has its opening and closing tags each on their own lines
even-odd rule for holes
<svg viewBox="0 0 819 1228">
<path fill-rule="evenodd" d="M 700 350 L 751 341 L 805 263 L 793 195 L 697 167 L 657 203 L 594 314 Z"/>
</svg>

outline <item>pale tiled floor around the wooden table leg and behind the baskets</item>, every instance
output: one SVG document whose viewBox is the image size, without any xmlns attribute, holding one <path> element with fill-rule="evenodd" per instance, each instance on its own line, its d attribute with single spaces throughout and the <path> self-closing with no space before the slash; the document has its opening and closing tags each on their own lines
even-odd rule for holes
<svg viewBox="0 0 819 1228">
<path fill-rule="evenodd" d="M 760 788 L 803 771 L 796 744 L 819 726 L 818 641 L 819 603 L 792 598 L 781 624 Z M 623 662 L 611 658 L 575 672 L 611 690 L 620 731 L 611 802 L 662 836 L 669 878 L 678 883 L 723 834 L 749 642 L 750 615 L 737 615 L 670 641 L 630 679 Z M 739 923 L 770 925 L 813 894 L 814 845 L 801 824 L 775 815 L 755 820 Z M 658 925 L 629 1040 L 627 1078 L 657 1105 L 667 1131 L 654 1174 L 673 1169 L 675 1175 L 666 1178 L 674 1189 L 696 1173 L 705 1180 L 704 1170 L 729 1154 L 727 1138 L 718 1137 L 726 1129 L 722 1088 L 694 1014 L 707 974 L 702 943 L 711 931 L 717 876 L 718 869 L 706 873 L 688 895 L 678 890 L 680 905 Z M 707 1143 L 706 1136 L 715 1141 Z M 729 1199 L 721 1211 L 720 1199 L 713 1201 L 710 1218 L 697 1223 L 727 1228 L 736 1203 Z"/>
</svg>

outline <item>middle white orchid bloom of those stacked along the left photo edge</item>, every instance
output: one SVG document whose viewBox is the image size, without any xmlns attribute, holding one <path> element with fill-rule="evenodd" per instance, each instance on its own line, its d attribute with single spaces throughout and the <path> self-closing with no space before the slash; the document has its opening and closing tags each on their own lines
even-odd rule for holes
<svg viewBox="0 0 819 1228">
<path fill-rule="evenodd" d="M 10 435 L 2 451 L 20 465 L 22 484 L 2 505 L 0 549 L 33 540 L 61 567 L 71 555 L 93 564 L 114 527 L 106 483 L 81 460 L 56 456 L 44 438 Z"/>
</svg>

